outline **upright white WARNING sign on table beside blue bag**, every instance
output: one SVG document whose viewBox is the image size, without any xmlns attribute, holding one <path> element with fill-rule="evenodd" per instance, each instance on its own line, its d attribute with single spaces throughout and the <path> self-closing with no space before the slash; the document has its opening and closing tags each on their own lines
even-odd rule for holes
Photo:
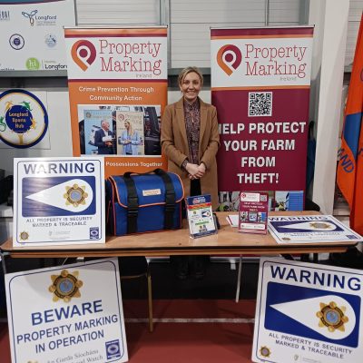
<svg viewBox="0 0 363 363">
<path fill-rule="evenodd" d="M 15 247 L 104 243 L 103 158 L 14 160 Z"/>
</svg>

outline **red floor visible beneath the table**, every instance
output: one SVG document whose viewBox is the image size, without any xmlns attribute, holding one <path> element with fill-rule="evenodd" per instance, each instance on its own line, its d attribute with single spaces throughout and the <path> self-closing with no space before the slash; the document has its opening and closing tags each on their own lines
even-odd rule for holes
<svg viewBox="0 0 363 363">
<path fill-rule="evenodd" d="M 125 300 L 125 319 L 146 318 L 145 300 Z M 255 301 L 154 300 L 155 319 L 252 319 Z M 149 332 L 147 322 L 126 323 L 132 363 L 250 362 L 253 324 L 250 322 L 158 322 Z M 10 363 L 6 324 L 0 324 L 0 363 Z M 39 362 L 42 363 L 42 362 Z"/>
</svg>

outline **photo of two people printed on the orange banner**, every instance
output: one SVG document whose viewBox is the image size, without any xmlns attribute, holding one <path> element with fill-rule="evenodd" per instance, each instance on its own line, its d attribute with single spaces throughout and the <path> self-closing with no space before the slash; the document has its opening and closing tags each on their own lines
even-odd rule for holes
<svg viewBox="0 0 363 363">
<path fill-rule="evenodd" d="M 83 155 L 160 156 L 160 105 L 79 104 Z"/>
</svg>

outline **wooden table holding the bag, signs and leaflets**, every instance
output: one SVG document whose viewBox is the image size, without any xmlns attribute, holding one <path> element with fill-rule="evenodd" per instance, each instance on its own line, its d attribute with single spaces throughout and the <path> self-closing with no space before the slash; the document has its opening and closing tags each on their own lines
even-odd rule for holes
<svg viewBox="0 0 363 363">
<path fill-rule="evenodd" d="M 184 228 L 176 231 L 162 231 L 108 237 L 106 243 L 43 247 L 13 247 L 13 241 L 6 240 L 0 246 L 3 255 L 13 258 L 64 258 L 64 257 L 110 257 L 110 256 L 170 256 L 170 255 L 279 255 L 323 252 L 344 252 L 355 246 L 355 241 L 313 242 L 305 244 L 278 244 L 267 235 L 240 233 L 231 228 L 226 217 L 231 212 L 219 212 L 221 229 L 218 234 L 191 239 L 184 221 Z M 311 215 L 317 211 L 275 211 L 270 215 Z"/>
</svg>

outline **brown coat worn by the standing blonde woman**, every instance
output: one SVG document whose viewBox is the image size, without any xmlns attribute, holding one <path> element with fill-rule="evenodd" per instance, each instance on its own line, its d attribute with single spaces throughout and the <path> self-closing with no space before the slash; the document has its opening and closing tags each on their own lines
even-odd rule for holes
<svg viewBox="0 0 363 363">
<path fill-rule="evenodd" d="M 201 105 L 201 130 L 199 137 L 199 162 L 206 166 L 201 178 L 201 193 L 211 194 L 212 208 L 218 207 L 218 175 L 216 154 L 220 146 L 217 110 L 208 103 Z M 162 116 L 162 153 L 168 157 L 168 170 L 182 179 L 185 196 L 190 195 L 191 180 L 188 172 L 182 170 L 182 162 L 189 159 L 189 145 L 184 121 L 183 99 L 165 107 Z"/>
</svg>

